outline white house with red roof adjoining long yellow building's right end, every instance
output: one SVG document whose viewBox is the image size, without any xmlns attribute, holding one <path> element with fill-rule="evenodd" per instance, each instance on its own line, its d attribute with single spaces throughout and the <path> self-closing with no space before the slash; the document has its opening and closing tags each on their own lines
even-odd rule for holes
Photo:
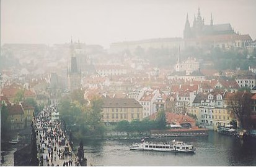
<svg viewBox="0 0 256 167">
<path fill-rule="evenodd" d="M 139 104 L 143 106 L 143 118 L 156 112 L 156 104 L 154 102 L 156 102 L 158 95 L 158 90 L 146 91 L 143 97 L 139 99 Z"/>
</svg>

